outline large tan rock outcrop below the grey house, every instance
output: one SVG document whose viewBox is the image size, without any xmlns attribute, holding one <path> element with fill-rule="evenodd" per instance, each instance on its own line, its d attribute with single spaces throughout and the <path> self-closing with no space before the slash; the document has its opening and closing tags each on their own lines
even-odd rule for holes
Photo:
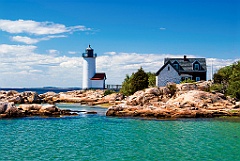
<svg viewBox="0 0 240 161">
<path fill-rule="evenodd" d="M 211 82 L 173 84 L 148 88 L 108 109 L 107 116 L 199 118 L 240 116 L 239 103 L 209 91 Z"/>
</svg>

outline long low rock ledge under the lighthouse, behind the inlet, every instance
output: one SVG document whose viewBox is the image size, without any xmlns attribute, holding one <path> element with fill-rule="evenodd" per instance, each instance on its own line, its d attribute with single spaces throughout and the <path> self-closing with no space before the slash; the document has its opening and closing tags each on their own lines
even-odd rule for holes
<svg viewBox="0 0 240 161">
<path fill-rule="evenodd" d="M 16 104 L 33 103 L 81 103 L 88 105 L 98 105 L 103 103 L 117 104 L 124 97 L 120 93 L 113 93 L 105 96 L 104 90 L 75 90 L 68 92 L 46 92 L 37 94 L 36 92 L 0 91 L 1 102 L 13 102 Z"/>
</svg>

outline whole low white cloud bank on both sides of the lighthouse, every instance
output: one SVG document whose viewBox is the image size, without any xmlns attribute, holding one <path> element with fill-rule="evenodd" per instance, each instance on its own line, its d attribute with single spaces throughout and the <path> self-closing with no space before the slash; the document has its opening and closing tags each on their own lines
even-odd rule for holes
<svg viewBox="0 0 240 161">
<path fill-rule="evenodd" d="M 82 57 L 67 57 L 56 54 L 36 53 L 33 45 L 0 44 L 1 87 L 81 87 Z M 59 52 L 51 49 L 52 53 Z M 121 84 L 126 74 L 142 67 L 146 72 L 157 72 L 165 57 L 182 57 L 172 54 L 116 53 L 97 57 L 97 72 L 107 74 L 106 84 Z M 188 55 L 194 57 L 194 55 Z M 214 71 L 230 65 L 237 59 L 207 58 L 208 76 L 211 62 Z M 209 77 L 210 78 L 210 77 Z"/>
</svg>

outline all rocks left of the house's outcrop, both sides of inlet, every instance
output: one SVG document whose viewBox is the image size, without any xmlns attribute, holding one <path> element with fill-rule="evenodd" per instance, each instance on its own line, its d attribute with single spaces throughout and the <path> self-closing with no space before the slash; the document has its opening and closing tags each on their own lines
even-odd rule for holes
<svg viewBox="0 0 240 161">
<path fill-rule="evenodd" d="M 28 116 L 73 116 L 79 113 L 96 114 L 95 111 L 71 111 L 58 108 L 56 103 L 81 103 L 86 105 L 120 103 L 123 95 L 113 93 L 104 96 L 103 90 L 78 90 L 68 92 L 46 92 L 37 94 L 33 91 L 0 91 L 0 118 Z"/>
</svg>

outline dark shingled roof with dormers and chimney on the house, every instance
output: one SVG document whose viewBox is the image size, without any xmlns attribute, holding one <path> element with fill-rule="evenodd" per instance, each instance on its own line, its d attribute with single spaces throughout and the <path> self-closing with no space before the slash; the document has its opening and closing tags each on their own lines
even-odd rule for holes
<svg viewBox="0 0 240 161">
<path fill-rule="evenodd" d="M 175 61 L 178 62 L 180 65 L 179 72 L 196 72 L 193 70 L 193 63 L 199 62 L 200 63 L 200 70 L 199 71 L 207 71 L 206 66 L 206 59 L 205 58 L 187 58 L 184 56 L 184 58 L 165 58 L 164 64 L 170 61 L 171 63 L 174 63 Z"/>
</svg>

